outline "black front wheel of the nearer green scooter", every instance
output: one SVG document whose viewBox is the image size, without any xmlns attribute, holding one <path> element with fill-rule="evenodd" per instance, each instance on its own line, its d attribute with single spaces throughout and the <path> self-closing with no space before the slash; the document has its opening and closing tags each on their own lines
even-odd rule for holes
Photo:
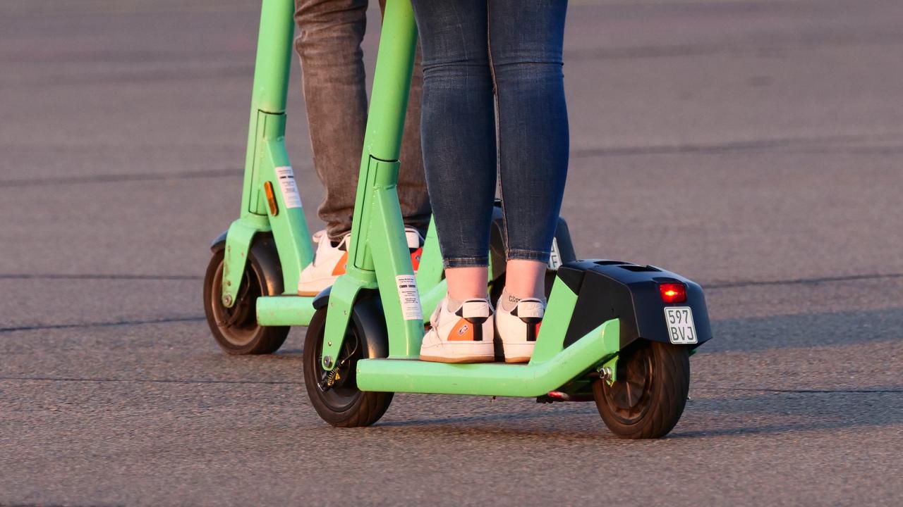
<svg viewBox="0 0 903 507">
<path fill-rule="evenodd" d="M 355 304 L 341 352 L 336 359 L 339 365 L 333 370 L 339 373 L 339 378 L 331 386 L 328 385 L 329 374 L 321 364 L 328 306 L 313 314 L 307 336 L 304 337 L 304 386 L 307 395 L 321 419 L 336 428 L 370 426 L 383 417 L 394 396 L 393 392 L 358 390 L 358 360 L 388 356 L 386 323 L 376 301 L 364 300 Z"/>
</svg>

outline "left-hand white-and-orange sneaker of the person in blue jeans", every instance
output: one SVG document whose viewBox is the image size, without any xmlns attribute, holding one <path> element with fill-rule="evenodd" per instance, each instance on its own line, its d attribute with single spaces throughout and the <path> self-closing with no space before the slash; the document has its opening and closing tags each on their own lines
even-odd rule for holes
<svg viewBox="0 0 903 507">
<path fill-rule="evenodd" d="M 488 300 L 466 300 L 458 311 L 442 300 L 430 318 L 431 328 L 420 347 L 420 360 L 437 363 L 491 363 L 495 361 L 492 306 Z"/>
</svg>

